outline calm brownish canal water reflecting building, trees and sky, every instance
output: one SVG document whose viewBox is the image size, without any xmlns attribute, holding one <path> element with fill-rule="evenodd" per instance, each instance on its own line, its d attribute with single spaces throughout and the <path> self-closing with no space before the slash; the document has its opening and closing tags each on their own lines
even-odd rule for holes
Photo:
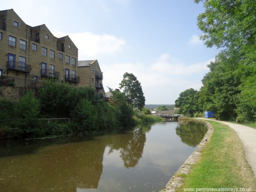
<svg viewBox="0 0 256 192">
<path fill-rule="evenodd" d="M 1 141 L 0 191 L 159 191 L 206 132 L 203 123 L 185 121 L 97 137 Z"/>
</svg>

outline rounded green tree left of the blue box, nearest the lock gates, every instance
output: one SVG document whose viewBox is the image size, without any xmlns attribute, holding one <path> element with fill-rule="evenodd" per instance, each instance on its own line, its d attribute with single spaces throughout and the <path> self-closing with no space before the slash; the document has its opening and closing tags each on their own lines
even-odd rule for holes
<svg viewBox="0 0 256 192">
<path fill-rule="evenodd" d="M 180 93 L 175 101 L 175 106 L 179 108 L 178 113 L 193 116 L 198 111 L 198 91 L 192 88 Z"/>
</svg>

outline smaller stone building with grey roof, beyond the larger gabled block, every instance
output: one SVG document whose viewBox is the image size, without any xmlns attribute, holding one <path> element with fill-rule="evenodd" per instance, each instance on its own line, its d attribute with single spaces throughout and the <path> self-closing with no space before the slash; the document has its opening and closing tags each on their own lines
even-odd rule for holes
<svg viewBox="0 0 256 192">
<path fill-rule="evenodd" d="M 79 87 L 90 86 L 96 91 L 96 95 L 105 96 L 102 79 L 103 73 L 97 60 L 78 61 L 78 75 L 81 78 Z"/>
</svg>

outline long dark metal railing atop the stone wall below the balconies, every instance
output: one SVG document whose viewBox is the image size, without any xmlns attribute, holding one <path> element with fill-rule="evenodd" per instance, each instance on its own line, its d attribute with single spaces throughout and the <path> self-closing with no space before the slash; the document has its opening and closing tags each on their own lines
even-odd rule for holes
<svg viewBox="0 0 256 192">
<path fill-rule="evenodd" d="M 30 89 L 38 89 L 44 87 L 45 83 L 31 79 L 21 79 L 16 77 L 0 76 L 0 86 L 23 87 Z"/>
</svg>

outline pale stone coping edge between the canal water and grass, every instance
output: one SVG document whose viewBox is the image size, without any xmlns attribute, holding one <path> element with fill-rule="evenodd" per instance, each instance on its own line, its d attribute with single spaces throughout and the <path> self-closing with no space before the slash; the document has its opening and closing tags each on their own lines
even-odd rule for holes
<svg viewBox="0 0 256 192">
<path fill-rule="evenodd" d="M 201 157 L 201 151 L 204 149 L 205 145 L 209 142 L 210 137 L 213 132 L 213 127 L 209 122 L 206 122 L 201 119 L 192 119 L 192 118 L 180 118 L 180 121 L 183 120 L 193 120 L 193 121 L 200 121 L 207 125 L 208 131 L 204 135 L 204 138 L 201 140 L 197 148 L 192 152 L 192 154 L 187 158 L 187 160 L 183 163 L 183 165 L 180 167 L 180 169 L 177 170 L 177 172 L 174 173 L 172 178 L 169 180 L 169 182 L 166 184 L 166 186 L 161 190 L 161 192 L 175 192 L 177 188 L 179 188 L 183 184 L 183 177 L 181 177 L 182 174 L 189 174 L 192 166 L 196 163 L 198 163 L 200 157 Z"/>
</svg>

